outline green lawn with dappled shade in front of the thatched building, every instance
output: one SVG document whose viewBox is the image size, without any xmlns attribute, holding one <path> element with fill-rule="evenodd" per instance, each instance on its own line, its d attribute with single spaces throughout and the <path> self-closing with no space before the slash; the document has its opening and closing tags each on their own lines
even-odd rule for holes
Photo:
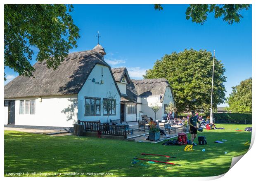
<svg viewBox="0 0 256 181">
<path fill-rule="evenodd" d="M 228 171 L 232 157 L 247 152 L 251 132 L 237 132 L 251 125 L 229 125 L 225 130 L 205 130 L 208 144 L 194 146 L 193 152 L 185 146 L 164 146 L 97 137 L 51 137 L 25 132 L 5 131 L 5 176 L 7 173 L 112 173 L 113 176 L 216 176 Z M 190 134 L 188 134 L 190 138 Z M 226 139 L 223 144 L 214 143 Z M 197 141 L 196 141 L 197 142 Z M 205 152 L 201 151 L 205 149 Z M 227 151 L 228 154 L 224 154 Z M 159 156 L 140 153 L 171 155 L 170 162 L 178 165 L 132 163 L 133 158 L 166 161 Z M 26 176 L 26 175 L 25 175 Z M 36 176 L 36 175 L 35 175 Z"/>
</svg>

